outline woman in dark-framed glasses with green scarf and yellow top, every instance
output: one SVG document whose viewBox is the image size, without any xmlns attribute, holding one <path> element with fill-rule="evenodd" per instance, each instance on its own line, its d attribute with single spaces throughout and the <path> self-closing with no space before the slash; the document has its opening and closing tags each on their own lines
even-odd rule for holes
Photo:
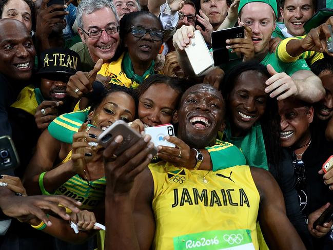
<svg viewBox="0 0 333 250">
<path fill-rule="evenodd" d="M 110 76 L 110 83 L 137 88 L 156 73 L 154 59 L 163 43 L 162 25 L 150 12 L 131 12 L 120 21 L 119 34 L 125 52 L 117 61 L 103 64 L 97 74 Z"/>
</svg>

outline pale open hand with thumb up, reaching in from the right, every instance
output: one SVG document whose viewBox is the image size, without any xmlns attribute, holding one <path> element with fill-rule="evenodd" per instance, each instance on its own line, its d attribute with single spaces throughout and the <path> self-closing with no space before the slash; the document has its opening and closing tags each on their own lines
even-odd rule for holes
<svg viewBox="0 0 333 250">
<path fill-rule="evenodd" d="M 297 95 L 299 90 L 296 83 L 286 73 L 277 72 L 270 64 L 267 65 L 267 70 L 271 77 L 266 81 L 266 93 L 270 93 L 269 97 L 277 100 L 286 99 L 292 95 Z"/>
</svg>

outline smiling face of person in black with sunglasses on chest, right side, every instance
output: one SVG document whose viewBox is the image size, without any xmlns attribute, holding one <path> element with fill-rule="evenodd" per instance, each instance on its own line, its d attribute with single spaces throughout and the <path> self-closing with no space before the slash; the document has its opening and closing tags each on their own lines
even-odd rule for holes
<svg viewBox="0 0 333 250">
<path fill-rule="evenodd" d="M 281 117 L 280 139 L 283 147 L 304 145 L 309 140 L 309 126 L 314 118 L 314 108 L 288 98 L 279 101 Z"/>
</svg>

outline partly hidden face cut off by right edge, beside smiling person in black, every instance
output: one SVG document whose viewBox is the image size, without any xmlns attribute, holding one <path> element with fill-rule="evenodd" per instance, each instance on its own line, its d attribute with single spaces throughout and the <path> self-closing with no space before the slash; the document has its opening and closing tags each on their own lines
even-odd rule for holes
<svg viewBox="0 0 333 250">
<path fill-rule="evenodd" d="M 328 120 L 333 114 L 333 74 L 320 75 L 325 98 L 315 104 L 316 115 L 320 120 Z"/>
</svg>

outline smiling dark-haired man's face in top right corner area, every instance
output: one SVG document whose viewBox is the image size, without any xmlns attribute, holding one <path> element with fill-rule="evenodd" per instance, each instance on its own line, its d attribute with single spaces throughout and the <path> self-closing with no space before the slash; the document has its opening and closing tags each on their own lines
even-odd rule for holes
<svg viewBox="0 0 333 250">
<path fill-rule="evenodd" d="M 312 0 L 286 0 L 280 8 L 288 33 L 293 36 L 304 35 L 303 25 L 315 13 Z"/>
</svg>

